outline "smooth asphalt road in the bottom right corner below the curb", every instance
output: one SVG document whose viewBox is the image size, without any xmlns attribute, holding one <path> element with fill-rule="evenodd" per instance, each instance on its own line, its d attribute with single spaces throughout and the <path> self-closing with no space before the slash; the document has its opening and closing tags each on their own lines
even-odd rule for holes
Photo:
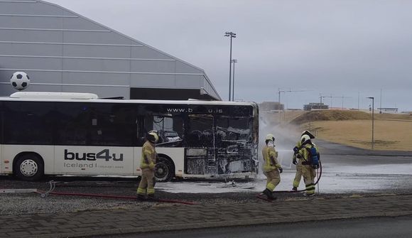
<svg viewBox="0 0 412 238">
<path fill-rule="evenodd" d="M 196 229 L 179 232 L 152 234 L 126 234 L 105 238 L 224 238 L 224 237 L 315 237 L 315 238 L 387 238 L 411 237 L 412 217 L 375 217 L 356 220 L 329 220 L 322 222 L 298 222 L 293 224 L 259 225 L 251 227 L 227 227 Z M 95 237 L 97 238 L 97 237 Z"/>
</svg>

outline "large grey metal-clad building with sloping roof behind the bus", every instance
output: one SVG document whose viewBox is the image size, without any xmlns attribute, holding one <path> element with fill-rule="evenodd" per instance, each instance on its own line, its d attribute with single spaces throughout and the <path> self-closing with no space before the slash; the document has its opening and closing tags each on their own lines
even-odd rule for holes
<svg viewBox="0 0 412 238">
<path fill-rule="evenodd" d="M 0 0 L 0 36 L 0 95 L 24 71 L 28 91 L 221 99 L 199 67 L 46 1 Z"/>
</svg>

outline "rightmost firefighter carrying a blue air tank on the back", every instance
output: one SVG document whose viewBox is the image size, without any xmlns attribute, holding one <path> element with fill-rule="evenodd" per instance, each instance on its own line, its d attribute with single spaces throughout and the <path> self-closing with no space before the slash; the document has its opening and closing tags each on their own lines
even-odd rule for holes
<svg viewBox="0 0 412 238">
<path fill-rule="evenodd" d="M 312 143 L 310 136 L 307 134 L 302 136 L 300 142 L 301 146 L 296 157 L 302 161 L 302 175 L 303 181 L 305 182 L 306 186 L 306 193 L 304 195 L 313 196 L 315 195 L 316 171 L 311 163 L 312 158 L 310 158 L 310 149 L 314 147 L 316 151 L 318 151 L 318 148 L 315 146 L 315 144 Z"/>
</svg>

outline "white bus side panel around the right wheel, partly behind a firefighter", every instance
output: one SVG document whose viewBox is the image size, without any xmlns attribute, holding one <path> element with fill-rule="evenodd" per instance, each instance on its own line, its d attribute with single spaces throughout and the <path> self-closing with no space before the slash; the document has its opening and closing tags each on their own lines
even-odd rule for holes
<svg viewBox="0 0 412 238">
<path fill-rule="evenodd" d="M 173 163 L 175 164 L 175 175 L 176 177 L 183 177 L 184 171 L 184 158 L 185 158 L 185 148 L 167 148 L 167 147 L 156 147 L 156 152 L 158 154 L 164 154 L 169 156 Z M 141 147 L 134 148 L 134 175 L 141 175 L 140 161 L 141 161 Z"/>
</svg>

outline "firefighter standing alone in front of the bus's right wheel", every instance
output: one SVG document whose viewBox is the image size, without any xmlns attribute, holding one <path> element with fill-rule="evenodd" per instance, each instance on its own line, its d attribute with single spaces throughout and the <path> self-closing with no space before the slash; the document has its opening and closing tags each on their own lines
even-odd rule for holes
<svg viewBox="0 0 412 238">
<path fill-rule="evenodd" d="M 139 188 L 137 188 L 137 198 L 139 200 L 145 200 L 146 194 L 148 199 L 154 198 L 154 173 L 156 166 L 156 148 L 155 144 L 158 141 L 158 134 L 156 132 L 149 132 L 146 136 L 146 142 L 141 148 L 141 180 Z"/>
</svg>

